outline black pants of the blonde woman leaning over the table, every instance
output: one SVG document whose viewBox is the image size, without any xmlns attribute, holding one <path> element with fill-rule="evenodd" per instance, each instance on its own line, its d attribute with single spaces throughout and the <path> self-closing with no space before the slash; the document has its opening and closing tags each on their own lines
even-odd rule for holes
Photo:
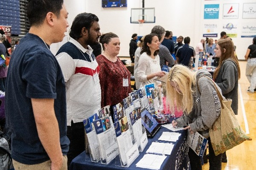
<svg viewBox="0 0 256 170">
<path fill-rule="evenodd" d="M 209 145 L 209 170 L 221 170 L 221 157 L 222 153 L 215 156 L 212 149 L 212 143 L 210 138 L 208 139 Z M 201 157 L 189 148 L 189 160 L 191 165 L 191 170 L 202 170 Z"/>
</svg>

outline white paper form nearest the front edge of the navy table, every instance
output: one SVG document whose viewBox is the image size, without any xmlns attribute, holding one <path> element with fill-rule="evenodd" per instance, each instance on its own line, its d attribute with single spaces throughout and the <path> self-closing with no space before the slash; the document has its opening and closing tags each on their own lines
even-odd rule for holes
<svg viewBox="0 0 256 170">
<path fill-rule="evenodd" d="M 136 164 L 136 166 L 151 170 L 159 170 L 166 157 L 167 156 L 164 155 L 145 154 L 143 158 L 140 159 L 140 161 Z"/>
</svg>

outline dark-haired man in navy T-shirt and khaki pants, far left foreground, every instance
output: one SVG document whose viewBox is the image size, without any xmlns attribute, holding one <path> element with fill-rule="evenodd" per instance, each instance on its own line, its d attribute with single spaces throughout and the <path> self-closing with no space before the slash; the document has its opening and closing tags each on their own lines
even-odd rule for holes
<svg viewBox="0 0 256 170">
<path fill-rule="evenodd" d="M 29 33 L 12 54 L 6 79 L 6 125 L 16 170 L 67 170 L 64 77 L 49 50 L 69 26 L 63 0 L 29 0 Z"/>
</svg>

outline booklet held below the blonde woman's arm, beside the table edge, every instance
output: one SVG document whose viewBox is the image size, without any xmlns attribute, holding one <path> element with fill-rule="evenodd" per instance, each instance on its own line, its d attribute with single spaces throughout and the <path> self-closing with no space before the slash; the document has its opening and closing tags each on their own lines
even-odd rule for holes
<svg viewBox="0 0 256 170">
<path fill-rule="evenodd" d="M 208 140 L 198 132 L 193 134 L 187 132 L 187 144 L 198 156 L 203 157 L 207 143 Z"/>
</svg>

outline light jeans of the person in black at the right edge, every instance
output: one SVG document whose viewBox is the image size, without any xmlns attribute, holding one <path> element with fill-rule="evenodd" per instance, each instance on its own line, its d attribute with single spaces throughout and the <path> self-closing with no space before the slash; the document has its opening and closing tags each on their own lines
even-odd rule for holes
<svg viewBox="0 0 256 170">
<path fill-rule="evenodd" d="M 256 58 L 247 59 L 245 75 L 250 82 L 249 90 L 251 93 L 254 93 L 256 88 Z"/>
</svg>

